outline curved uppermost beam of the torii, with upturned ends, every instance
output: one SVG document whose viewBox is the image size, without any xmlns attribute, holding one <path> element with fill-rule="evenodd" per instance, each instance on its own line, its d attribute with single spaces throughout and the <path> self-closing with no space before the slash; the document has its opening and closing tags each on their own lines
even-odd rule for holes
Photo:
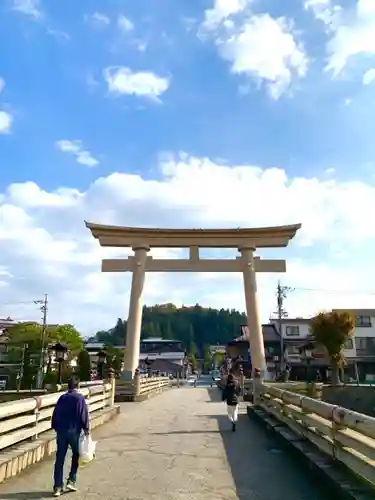
<svg viewBox="0 0 375 500">
<path fill-rule="evenodd" d="M 103 247 L 276 248 L 286 247 L 301 224 L 251 229 L 159 229 L 94 224 L 85 221 Z"/>
</svg>

